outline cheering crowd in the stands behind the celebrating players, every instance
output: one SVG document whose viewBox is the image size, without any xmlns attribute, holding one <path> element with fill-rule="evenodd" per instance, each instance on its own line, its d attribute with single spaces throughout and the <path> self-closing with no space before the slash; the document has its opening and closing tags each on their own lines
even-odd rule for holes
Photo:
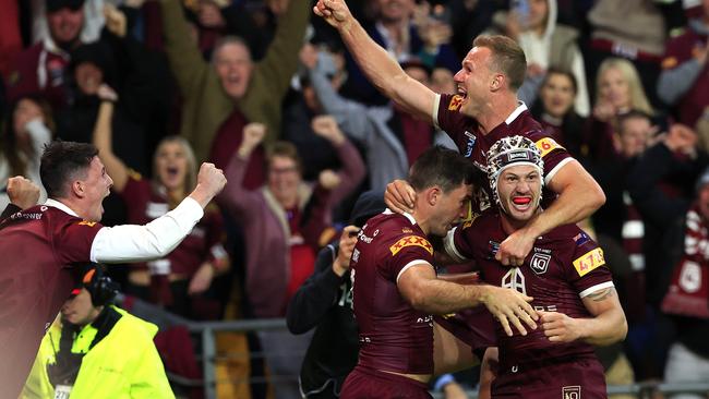
<svg viewBox="0 0 709 399">
<path fill-rule="evenodd" d="M 192 321 L 285 317 L 358 195 L 405 179 L 431 145 L 455 147 L 378 94 L 312 5 L 0 0 L 0 206 L 8 178 L 39 183 L 52 140 L 100 150 L 113 179 L 108 226 L 164 215 L 194 186 L 200 162 L 214 162 L 228 185 L 188 239 L 112 277 L 127 294 Z M 600 352 L 609 384 L 707 380 L 709 0 L 348 5 L 438 93 L 456 92 L 479 34 L 519 43 L 520 100 L 606 195 L 587 226 L 629 323 L 627 340 Z M 269 373 L 297 375 L 302 358 L 272 352 L 304 351 L 310 337 L 224 334 L 217 344 L 223 354 L 263 350 Z M 243 360 L 217 372 L 248 377 L 263 366 Z M 277 398 L 300 397 L 297 384 L 275 386 Z M 257 385 L 217 388 L 266 395 Z"/>
</svg>

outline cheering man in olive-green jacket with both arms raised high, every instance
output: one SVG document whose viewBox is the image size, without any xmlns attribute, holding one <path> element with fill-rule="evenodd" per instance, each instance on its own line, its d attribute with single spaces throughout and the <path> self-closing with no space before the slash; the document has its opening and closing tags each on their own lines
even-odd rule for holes
<svg viewBox="0 0 709 399">
<path fill-rule="evenodd" d="M 298 68 L 310 15 L 308 1 L 290 3 L 266 56 L 256 64 L 243 40 L 233 37 L 215 45 L 213 62 L 207 63 L 190 40 L 180 2 L 163 0 L 161 5 L 166 52 L 184 101 L 180 132 L 197 160 L 207 158 L 214 143 L 219 153 L 213 152 L 211 158 L 225 167 L 249 122 L 264 123 L 266 142 L 273 143 L 280 132 L 280 102 Z"/>
</svg>

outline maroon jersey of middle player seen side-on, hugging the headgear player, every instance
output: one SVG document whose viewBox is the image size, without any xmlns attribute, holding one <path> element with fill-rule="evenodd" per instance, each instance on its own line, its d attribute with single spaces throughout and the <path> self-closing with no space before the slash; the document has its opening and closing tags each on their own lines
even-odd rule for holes
<svg viewBox="0 0 709 399">
<path fill-rule="evenodd" d="M 433 247 L 409 215 L 387 210 L 360 231 L 351 278 L 361 366 L 433 373 L 433 317 L 411 307 L 397 288 L 401 273 L 421 263 L 433 265 Z"/>
</svg>

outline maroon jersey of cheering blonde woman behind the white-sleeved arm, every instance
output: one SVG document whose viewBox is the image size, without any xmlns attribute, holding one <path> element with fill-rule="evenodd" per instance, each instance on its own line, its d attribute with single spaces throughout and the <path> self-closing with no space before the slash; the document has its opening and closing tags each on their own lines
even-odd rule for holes
<svg viewBox="0 0 709 399">
<path fill-rule="evenodd" d="M 128 222 L 132 225 L 146 225 L 170 210 L 166 195 L 154 190 L 149 181 L 142 179 L 135 172 L 129 173 L 121 196 L 128 207 Z M 165 258 L 149 264 L 157 265 L 159 274 L 173 273 L 189 278 L 203 263 L 226 255 L 221 244 L 224 240 L 221 214 L 215 205 L 211 204 L 204 209 L 204 217 L 175 251 Z M 137 264 L 137 267 L 146 267 L 146 264 Z"/>
</svg>

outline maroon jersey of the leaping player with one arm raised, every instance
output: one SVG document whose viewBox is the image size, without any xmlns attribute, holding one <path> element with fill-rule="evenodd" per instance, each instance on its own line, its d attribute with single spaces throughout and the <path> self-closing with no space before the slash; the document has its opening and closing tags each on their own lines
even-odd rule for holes
<svg viewBox="0 0 709 399">
<path fill-rule="evenodd" d="M 470 158 L 477 170 L 481 172 L 479 185 L 473 193 L 476 198 L 473 209 L 477 213 L 495 207 L 492 203 L 492 192 L 488 184 L 488 150 L 500 138 L 520 135 L 525 136 L 534 144 L 542 154 L 544 160 L 544 181 L 549 183 L 554 174 L 573 158 L 564 147 L 558 145 L 544 129 L 532 118 L 527 106 L 520 104 L 519 107 L 488 134 L 480 131 L 478 121 L 466 117 L 459 112 L 462 97 L 459 95 L 442 94 L 437 105 L 435 123 L 444 130 L 458 146 L 460 154 Z M 544 191 L 542 196 L 545 200 L 553 200 L 554 194 L 551 191 Z"/>
</svg>

